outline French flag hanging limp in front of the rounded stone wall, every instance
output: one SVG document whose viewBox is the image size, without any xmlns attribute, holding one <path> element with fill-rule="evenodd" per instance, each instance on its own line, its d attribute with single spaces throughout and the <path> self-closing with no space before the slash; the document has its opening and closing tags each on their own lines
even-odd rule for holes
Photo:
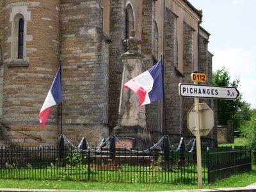
<svg viewBox="0 0 256 192">
<path fill-rule="evenodd" d="M 58 69 L 56 76 L 52 82 L 51 89 L 44 101 L 42 109 L 39 113 L 39 120 L 42 127 L 46 126 L 50 115 L 51 107 L 61 102 L 61 66 Z"/>
</svg>

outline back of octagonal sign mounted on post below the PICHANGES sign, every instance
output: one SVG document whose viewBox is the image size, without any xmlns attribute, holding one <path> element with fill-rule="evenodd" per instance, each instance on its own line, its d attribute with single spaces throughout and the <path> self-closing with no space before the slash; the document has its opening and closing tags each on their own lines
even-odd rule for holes
<svg viewBox="0 0 256 192">
<path fill-rule="evenodd" d="M 204 102 L 199 104 L 199 124 L 200 124 L 200 136 L 207 136 L 214 127 L 214 115 L 213 111 Z M 195 104 L 189 109 L 187 113 L 187 126 L 188 129 L 196 136 L 196 113 Z"/>
</svg>

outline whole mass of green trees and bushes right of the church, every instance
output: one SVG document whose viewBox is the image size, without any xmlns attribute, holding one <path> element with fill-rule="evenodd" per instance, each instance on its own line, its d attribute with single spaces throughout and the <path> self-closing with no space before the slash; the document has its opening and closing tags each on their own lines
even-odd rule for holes
<svg viewBox="0 0 256 192">
<path fill-rule="evenodd" d="M 212 84 L 217 86 L 234 86 L 237 88 L 239 80 L 230 83 L 228 70 L 223 67 L 212 74 Z M 256 109 L 250 104 L 241 102 L 242 95 L 236 100 L 218 100 L 218 124 L 226 125 L 227 120 L 234 121 L 234 130 L 242 132 L 246 143 L 256 150 Z M 254 153 L 256 159 L 256 152 Z"/>
</svg>

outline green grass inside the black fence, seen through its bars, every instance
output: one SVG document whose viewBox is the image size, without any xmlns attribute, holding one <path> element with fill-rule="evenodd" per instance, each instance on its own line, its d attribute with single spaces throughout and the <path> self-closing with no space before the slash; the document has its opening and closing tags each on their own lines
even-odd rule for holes
<svg viewBox="0 0 256 192">
<path fill-rule="evenodd" d="M 195 184 L 197 181 L 196 166 L 187 164 L 181 168 L 173 166 L 168 171 L 162 166 L 129 166 L 122 165 L 120 170 L 109 168 L 101 170 L 92 168 L 88 172 L 88 166 L 79 164 L 77 166 L 63 167 L 49 166 L 47 168 L 28 168 L 24 166 L 12 166 L 8 164 L 8 168 L 0 169 L 0 177 L 5 179 L 33 179 L 33 180 L 81 180 L 93 182 L 161 182 L 161 183 L 179 183 Z M 32 166 L 30 164 L 30 166 Z M 204 174 L 203 181 L 207 182 L 207 168 L 202 167 Z"/>
</svg>

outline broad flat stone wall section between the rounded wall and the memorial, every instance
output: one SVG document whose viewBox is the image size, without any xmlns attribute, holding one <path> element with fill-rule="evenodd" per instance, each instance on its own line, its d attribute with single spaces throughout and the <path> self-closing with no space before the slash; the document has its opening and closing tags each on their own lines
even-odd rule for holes
<svg viewBox="0 0 256 192">
<path fill-rule="evenodd" d="M 109 40 L 99 1 L 61 1 L 63 134 L 73 143 L 109 135 Z"/>
</svg>

